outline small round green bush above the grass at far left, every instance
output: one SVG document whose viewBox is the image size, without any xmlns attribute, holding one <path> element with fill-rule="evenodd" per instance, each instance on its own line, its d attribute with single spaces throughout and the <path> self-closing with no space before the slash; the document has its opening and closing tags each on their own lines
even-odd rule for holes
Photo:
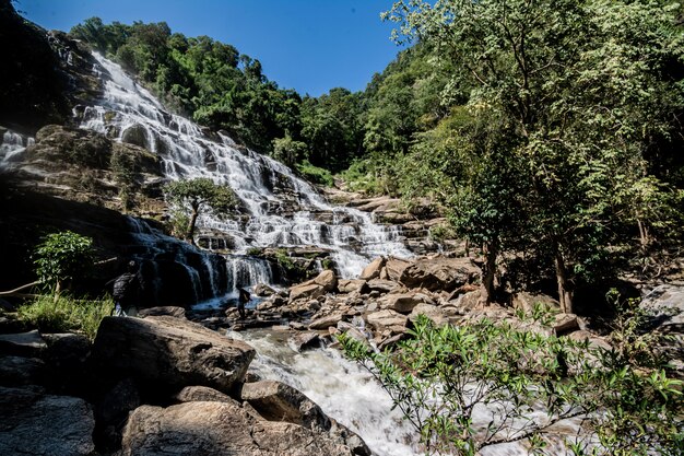
<svg viewBox="0 0 684 456">
<path fill-rule="evenodd" d="M 36 274 L 49 290 L 59 292 L 63 281 L 78 279 L 93 265 L 93 239 L 71 231 L 50 233 L 34 250 Z"/>
</svg>

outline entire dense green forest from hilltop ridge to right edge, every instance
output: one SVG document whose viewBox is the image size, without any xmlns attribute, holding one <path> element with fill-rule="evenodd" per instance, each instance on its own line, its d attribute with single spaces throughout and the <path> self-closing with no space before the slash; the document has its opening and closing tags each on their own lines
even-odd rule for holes
<svg viewBox="0 0 684 456">
<path fill-rule="evenodd" d="M 365 92 L 284 90 L 259 60 L 165 23 L 71 34 L 168 106 L 331 184 L 429 197 L 483 249 L 484 300 L 556 283 L 564 308 L 681 241 L 684 49 L 663 1 L 398 2 L 410 44 Z M 505 265 L 505 272 L 497 269 Z M 500 272 L 500 270 L 498 271 Z"/>
</svg>

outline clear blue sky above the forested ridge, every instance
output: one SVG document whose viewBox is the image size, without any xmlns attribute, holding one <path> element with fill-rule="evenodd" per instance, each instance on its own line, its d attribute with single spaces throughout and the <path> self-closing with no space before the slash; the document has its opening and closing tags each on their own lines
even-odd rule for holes
<svg viewBox="0 0 684 456">
<path fill-rule="evenodd" d="M 318 96 L 365 89 L 399 48 L 380 21 L 391 0 L 19 0 L 38 25 L 69 31 L 92 16 L 105 23 L 166 22 L 186 36 L 208 35 L 259 59 L 281 87 Z"/>
</svg>

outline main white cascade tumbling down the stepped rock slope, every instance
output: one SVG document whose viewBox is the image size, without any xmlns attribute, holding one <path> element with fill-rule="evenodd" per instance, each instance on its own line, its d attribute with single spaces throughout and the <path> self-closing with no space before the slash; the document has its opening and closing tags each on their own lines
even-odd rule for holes
<svg viewBox="0 0 684 456">
<path fill-rule="evenodd" d="M 221 220 L 208 214 L 200 218 L 199 227 L 229 239 L 224 245 L 231 244 L 235 253 L 245 254 L 250 247 L 316 246 L 331 252 L 344 278 L 358 274 L 375 256 L 411 255 L 396 227 L 375 224 L 358 210 L 327 203 L 288 167 L 238 150 L 224 135 L 205 136 L 192 121 L 165 112 L 118 65 L 99 55 L 95 58 L 94 71 L 105 81 L 104 97 L 85 108 L 81 127 L 144 145 L 160 156 L 169 179 L 209 177 L 229 186 L 249 218 Z M 262 268 L 252 269 L 261 276 L 248 283 L 269 279 Z"/>
</svg>

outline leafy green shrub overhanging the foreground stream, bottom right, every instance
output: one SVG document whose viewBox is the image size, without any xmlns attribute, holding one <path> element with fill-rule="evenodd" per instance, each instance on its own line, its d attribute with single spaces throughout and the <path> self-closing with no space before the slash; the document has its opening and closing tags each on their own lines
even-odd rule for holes
<svg viewBox="0 0 684 456">
<path fill-rule="evenodd" d="M 340 342 L 349 358 L 380 381 L 427 454 L 475 455 L 521 439 L 539 454 L 550 428 L 571 417 L 583 417 L 585 431 L 595 432 L 601 443 L 593 445 L 588 434 L 570 436 L 566 444 L 576 454 L 632 448 L 635 455 L 649 449 L 675 455 L 681 449 L 681 382 L 662 371 L 613 369 L 605 361 L 612 353 L 590 349 L 588 342 L 486 319 L 435 327 L 420 316 L 409 335 L 393 352 L 375 352 L 344 336 Z M 627 423 L 638 428 L 629 431 Z"/>
</svg>

